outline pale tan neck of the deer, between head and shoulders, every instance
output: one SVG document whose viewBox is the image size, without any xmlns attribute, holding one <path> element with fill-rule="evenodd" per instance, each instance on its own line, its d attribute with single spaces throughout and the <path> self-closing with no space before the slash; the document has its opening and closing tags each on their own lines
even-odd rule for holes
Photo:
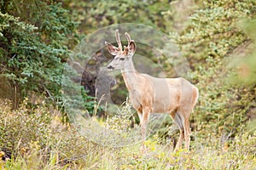
<svg viewBox="0 0 256 170">
<path fill-rule="evenodd" d="M 136 71 L 132 59 L 125 63 L 125 66 L 121 71 L 125 80 L 126 88 L 128 88 L 128 90 L 136 89 L 139 73 Z"/>
</svg>

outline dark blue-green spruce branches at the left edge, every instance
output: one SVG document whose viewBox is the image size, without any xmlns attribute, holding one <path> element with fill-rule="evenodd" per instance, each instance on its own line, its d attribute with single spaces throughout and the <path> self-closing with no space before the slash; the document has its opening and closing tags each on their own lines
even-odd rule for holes
<svg viewBox="0 0 256 170">
<path fill-rule="evenodd" d="M 0 14 L 1 74 L 14 82 L 23 96 L 29 91 L 45 92 L 50 97 L 60 95 L 61 59 L 70 54 L 64 42 L 74 26 L 68 27 L 72 22 L 60 5 L 53 4 L 45 10 L 39 27 L 10 14 Z"/>
</svg>

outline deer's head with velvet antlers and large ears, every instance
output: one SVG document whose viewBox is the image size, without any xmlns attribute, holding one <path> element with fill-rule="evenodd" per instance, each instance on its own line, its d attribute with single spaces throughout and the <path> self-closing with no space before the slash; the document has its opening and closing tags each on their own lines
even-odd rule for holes
<svg viewBox="0 0 256 170">
<path fill-rule="evenodd" d="M 113 60 L 108 64 L 108 70 L 123 69 L 125 67 L 125 63 L 131 61 L 131 58 L 136 51 L 136 44 L 131 40 L 130 35 L 125 32 L 125 36 L 128 41 L 128 46 L 124 46 L 124 50 L 122 49 L 118 30 L 115 31 L 116 42 L 119 45 L 118 48 L 114 47 L 111 43 L 105 42 L 108 52 L 114 55 Z"/>
</svg>

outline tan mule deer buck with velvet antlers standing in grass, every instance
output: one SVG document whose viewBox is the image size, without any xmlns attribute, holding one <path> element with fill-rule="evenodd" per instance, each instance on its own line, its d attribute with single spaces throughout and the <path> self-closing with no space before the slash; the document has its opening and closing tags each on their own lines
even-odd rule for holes
<svg viewBox="0 0 256 170">
<path fill-rule="evenodd" d="M 115 31 L 118 48 L 105 42 L 108 52 L 114 55 L 107 67 L 108 70 L 120 69 L 122 72 L 131 104 L 140 118 L 143 141 L 146 139 L 146 127 L 150 113 L 167 113 L 180 130 L 175 150 L 182 147 L 183 139 L 185 139 L 185 149 L 189 150 L 189 115 L 198 99 L 198 88 L 182 77 L 157 78 L 137 72 L 132 62 L 137 46 L 127 32 L 125 36 L 128 46 L 124 46 L 124 50 L 118 30 Z M 143 150 L 145 149 L 143 142 Z"/>
</svg>

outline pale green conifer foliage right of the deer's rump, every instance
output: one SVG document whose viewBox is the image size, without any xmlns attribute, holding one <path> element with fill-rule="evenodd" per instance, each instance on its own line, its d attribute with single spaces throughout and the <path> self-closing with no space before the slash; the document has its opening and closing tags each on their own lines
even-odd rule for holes
<svg viewBox="0 0 256 170">
<path fill-rule="evenodd" d="M 250 41 L 238 23 L 255 18 L 254 9 L 255 3 L 247 0 L 206 1 L 189 17 L 191 23 L 181 35 L 174 36 L 194 69 L 191 77 L 200 89 L 192 122 L 201 122 L 195 127 L 202 130 L 201 135 L 207 135 L 210 129 L 217 135 L 225 131 L 234 135 L 255 106 L 252 87 L 230 84 L 230 77 L 237 72 L 228 58 L 235 48 Z"/>
</svg>

